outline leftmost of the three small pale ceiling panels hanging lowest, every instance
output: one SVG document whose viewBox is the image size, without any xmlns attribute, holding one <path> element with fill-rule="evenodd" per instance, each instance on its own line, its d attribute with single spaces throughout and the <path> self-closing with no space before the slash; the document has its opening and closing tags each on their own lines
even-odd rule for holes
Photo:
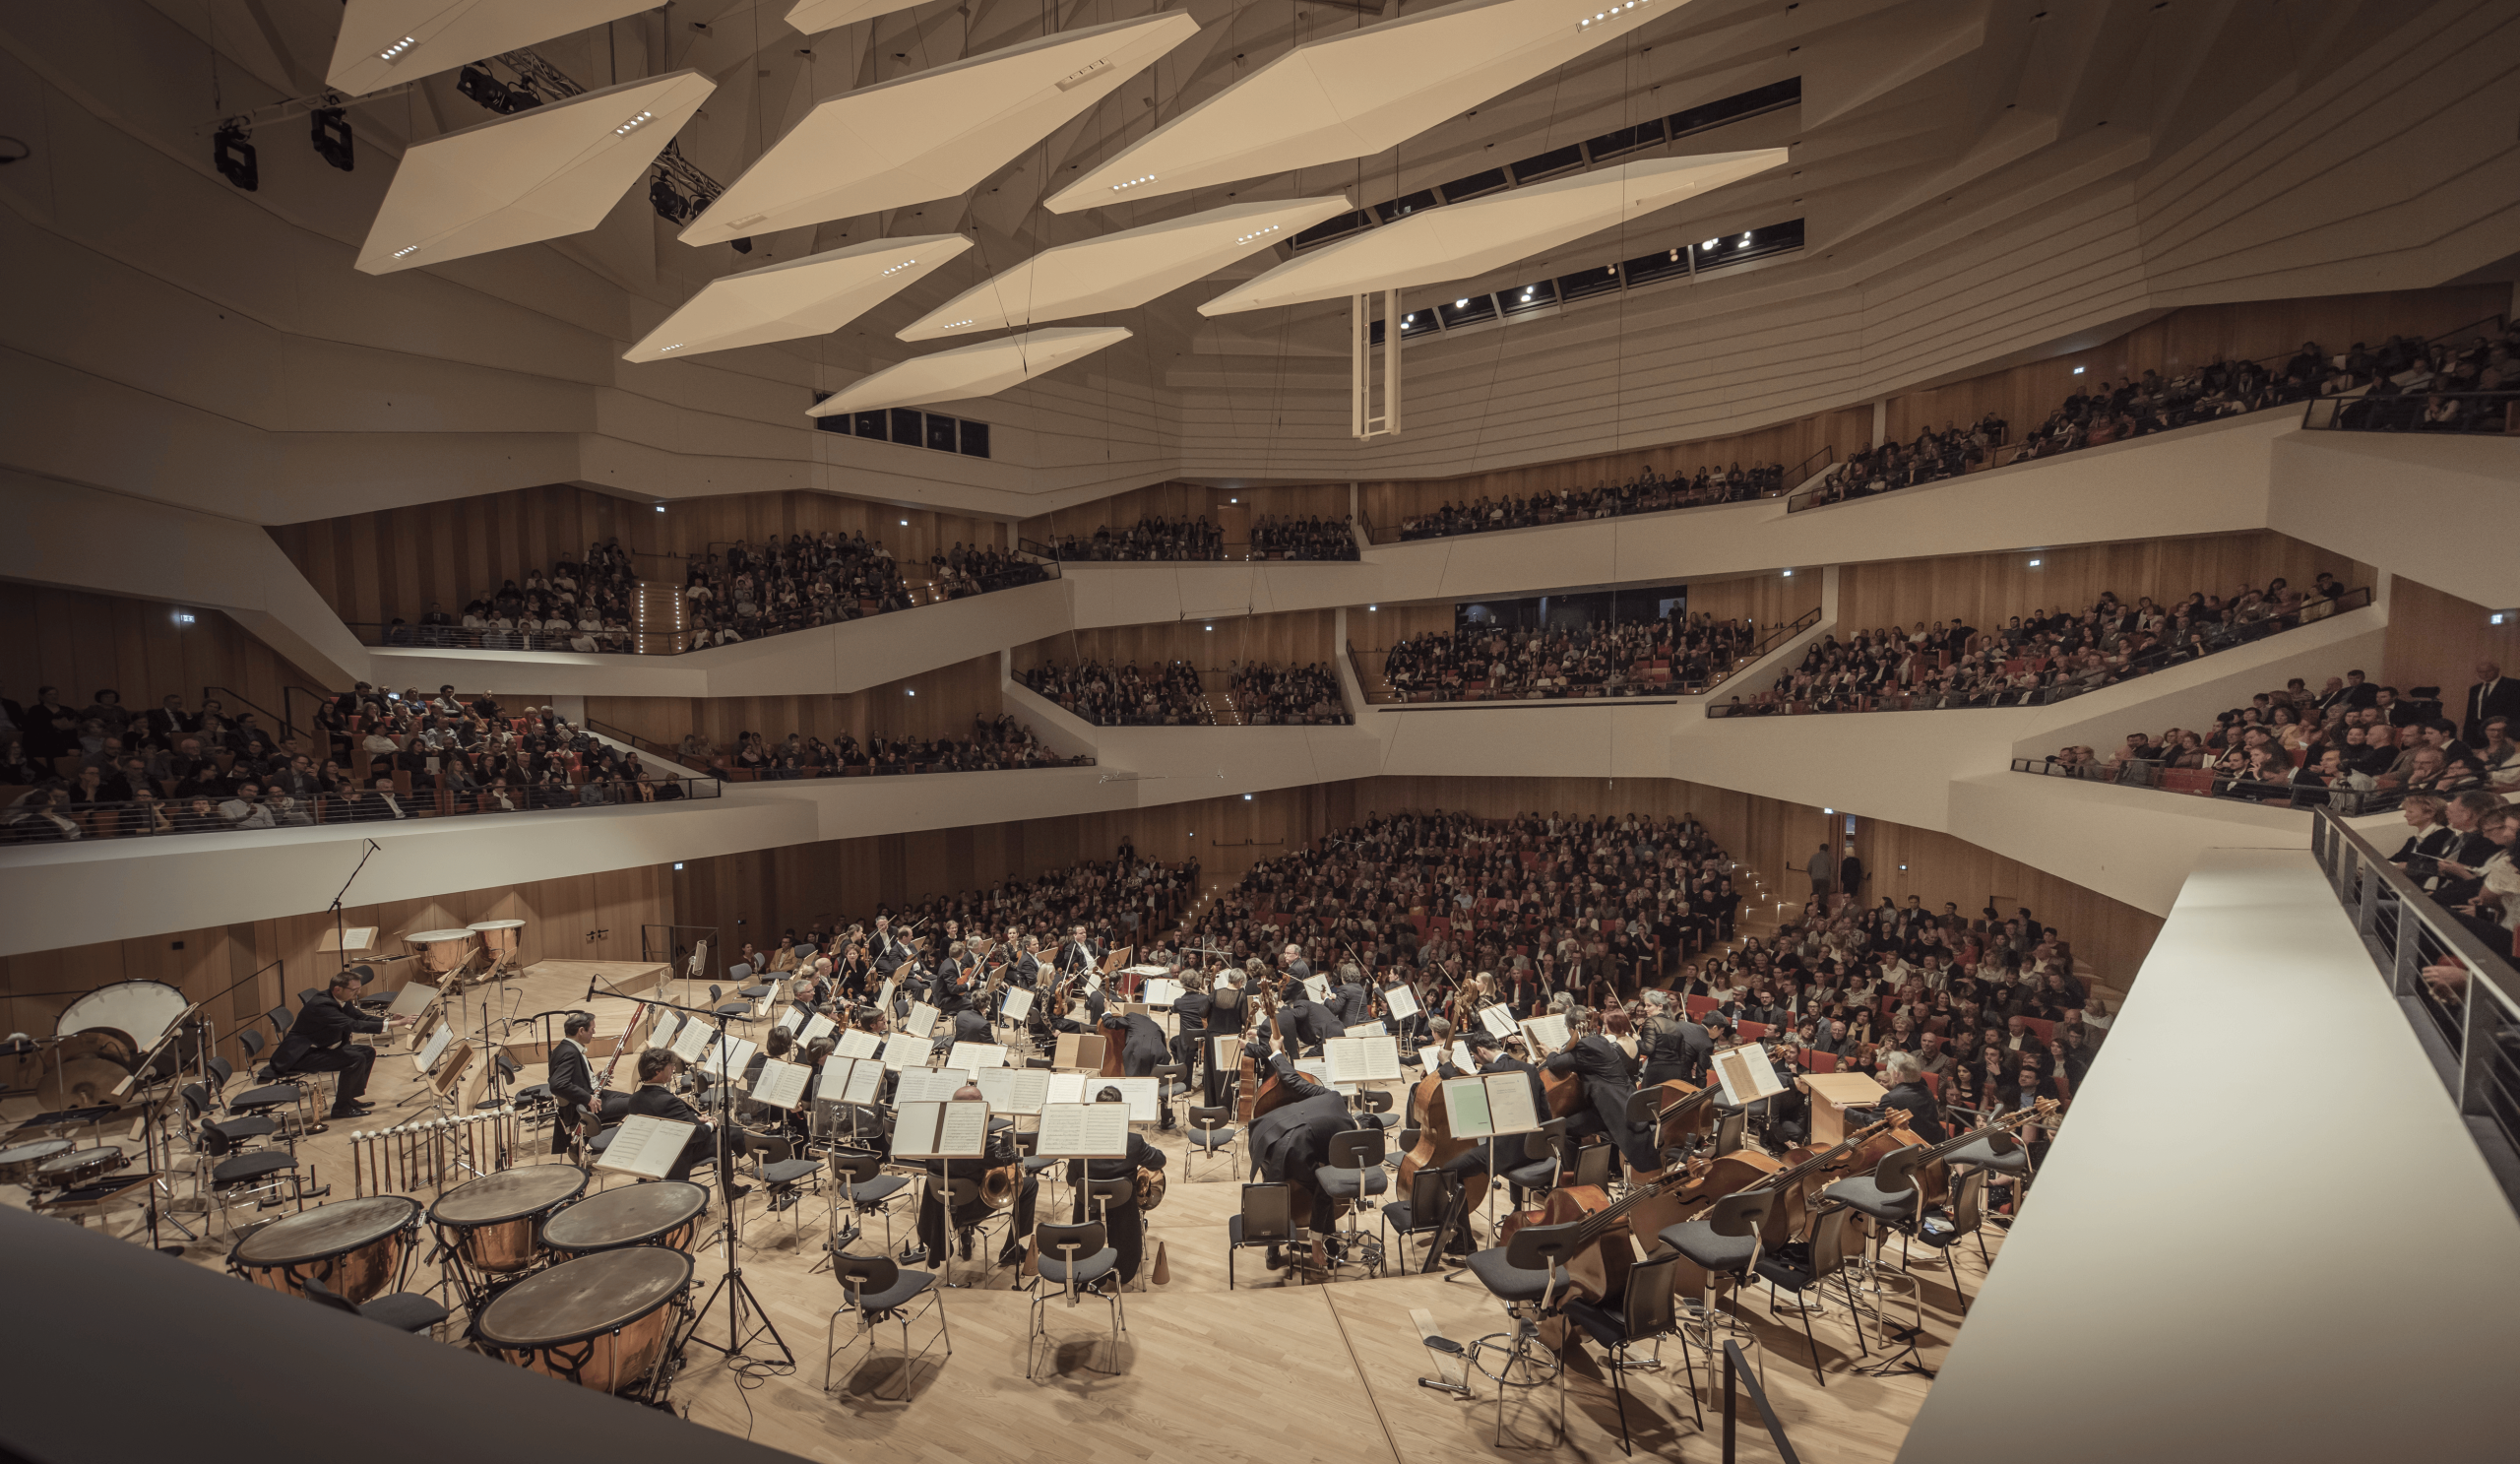
<svg viewBox="0 0 2520 1464">
<path fill-rule="evenodd" d="M 665 360 L 764 340 L 827 335 L 970 249 L 963 234 L 869 239 L 711 280 L 622 360 Z"/>
</svg>

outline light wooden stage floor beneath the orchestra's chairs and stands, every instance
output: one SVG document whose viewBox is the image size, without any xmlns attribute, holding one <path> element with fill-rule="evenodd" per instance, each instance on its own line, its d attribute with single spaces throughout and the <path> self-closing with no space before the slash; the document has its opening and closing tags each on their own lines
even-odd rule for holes
<svg viewBox="0 0 2520 1464">
<path fill-rule="evenodd" d="M 552 965 L 562 963 L 544 963 L 537 973 L 557 980 L 562 973 L 547 970 Z M 585 975 L 577 973 L 570 980 L 575 985 L 564 995 L 582 998 Z M 519 1005 L 519 1010 L 542 1008 Z M 622 1021 L 625 1015 L 627 1003 L 622 1003 Z M 388 1116 L 393 1104 L 416 1089 L 413 1068 L 408 1061 L 388 1058 L 375 1071 L 378 1081 L 368 1096 L 378 1104 L 378 1116 Z M 522 1076 L 527 1084 L 539 1078 L 539 1063 Z M 345 1124 L 335 1124 L 325 1134 L 300 1141 L 300 1159 L 312 1164 L 320 1184 L 333 1187 L 335 1199 L 350 1194 L 345 1131 Z M 106 1141 L 123 1141 L 121 1129 L 108 1131 Z M 756 1184 L 753 1194 L 741 1202 L 743 1278 L 794 1351 L 796 1368 L 761 1366 L 761 1358 L 774 1353 L 766 1338 L 748 1348 L 751 1361 L 743 1366 L 728 1366 L 723 1356 L 693 1346 L 673 1388 L 675 1411 L 685 1411 L 711 1429 L 806 1459 L 879 1454 L 895 1464 L 1104 1464 L 1169 1456 L 1250 1459 L 1255 1464 L 1288 1464 L 1290 1459 L 1452 1464 L 1459 1459 L 1530 1459 L 1535 1451 L 1565 1459 L 1620 1459 L 1613 1393 L 1593 1363 L 1578 1363 L 1570 1371 L 1570 1436 L 1555 1449 L 1550 1446 L 1552 1388 L 1535 1393 L 1537 1404 L 1527 1404 L 1522 1396 L 1507 1401 L 1507 1444 L 1497 1446 L 1492 1386 L 1477 1404 L 1419 1386 L 1419 1376 L 1436 1371 L 1436 1353 L 1421 1346 L 1411 1313 L 1429 1313 L 1441 1335 L 1462 1343 L 1509 1325 L 1504 1310 L 1467 1272 L 1459 1280 L 1446 1280 L 1441 1272 L 1366 1278 L 1353 1270 L 1326 1283 L 1305 1283 L 1288 1272 L 1265 1270 L 1260 1252 L 1252 1250 L 1237 1260 L 1237 1288 L 1227 1293 L 1225 1222 L 1240 1202 L 1242 1174 L 1225 1162 L 1202 1159 L 1197 1177 L 1184 1177 L 1179 1136 L 1164 1134 L 1159 1141 L 1169 1154 L 1172 1182 L 1164 1204 L 1149 1217 L 1147 1255 L 1152 1262 L 1154 1242 L 1162 1242 L 1172 1280 L 1164 1288 L 1126 1295 L 1129 1330 L 1119 1346 L 1116 1376 L 1101 1371 L 1111 1366 L 1104 1343 L 1109 1313 L 1099 1300 L 1086 1300 L 1076 1310 L 1053 1305 L 1048 1323 L 1056 1338 L 1051 1371 L 1041 1381 L 1026 1381 L 1028 1303 L 1023 1293 L 1013 1290 L 1013 1272 L 1000 1267 L 980 1280 L 978 1260 L 955 1260 L 950 1262 L 955 1280 L 978 1285 L 945 1293 L 953 1356 L 932 1351 L 910 1371 L 910 1401 L 874 1396 L 877 1391 L 902 1391 L 895 1361 L 902 1335 L 897 1325 L 890 1328 L 890 1335 L 877 1333 L 874 1358 L 864 1358 L 864 1348 L 859 1348 L 854 1366 L 844 1358 L 834 1391 L 824 1393 L 824 1325 L 839 1303 L 839 1285 L 829 1272 L 811 1267 L 822 1255 L 829 1197 L 806 1194 L 789 1212 L 764 1215 L 766 1194 Z M 524 1162 L 554 1162 L 542 1154 L 544 1147 L 544 1136 L 529 1136 Z M 131 1149 L 136 1152 L 136 1144 Z M 620 1184 L 622 1179 L 612 1177 L 610 1182 Z M 416 1197 L 423 1204 L 433 1199 L 431 1192 Z M 0 1202 L 25 1204 L 25 1192 L 8 1187 Z M 1048 1199 L 1043 1215 L 1051 1215 Z M 181 1220 L 202 1230 L 199 1215 Z M 252 1222 L 252 1212 L 237 1212 L 237 1220 Z M 136 1207 L 91 1220 L 91 1225 L 146 1242 Z M 895 1220 L 895 1242 L 910 1235 L 912 1225 L 915 1199 L 905 1199 Z M 869 1222 L 869 1235 L 882 1235 L 879 1220 Z M 179 1237 L 169 1232 L 169 1240 Z M 186 1257 L 222 1267 L 229 1245 L 222 1232 L 214 1242 L 194 1242 Z M 2001 1232 L 1988 1230 L 1986 1245 L 1996 1250 Z M 703 1235 L 696 1272 L 703 1288 L 718 1283 L 721 1255 L 723 1247 L 713 1235 Z M 1961 1283 L 1976 1295 L 1986 1280 L 1978 1247 L 1963 1242 L 1956 1255 Z M 1940 1255 L 1918 1250 L 1913 1275 L 1923 1283 L 1925 1298 L 1923 1356 L 1928 1366 L 1935 1366 L 1958 1330 L 1958 1308 Z M 411 1290 L 423 1290 L 436 1280 L 431 1267 L 416 1265 Z M 1772 1315 L 1767 1300 L 1761 1288 L 1744 1315 L 1761 1343 L 1751 1356 L 1767 1356 L 1767 1388 L 1794 1449 L 1812 1461 L 1885 1461 L 1898 1454 L 1908 1424 L 1925 1398 L 1928 1381 L 1855 1373 L 1852 1366 L 1862 1358 L 1850 1333 L 1850 1318 L 1842 1305 L 1832 1305 L 1814 1320 L 1817 1361 L 1827 1373 L 1822 1388 L 1812 1376 L 1812 1351 L 1804 1343 L 1802 1323 L 1792 1315 Z M 1895 1315 L 1905 1318 L 1905 1303 L 1898 1303 Z M 930 1330 L 932 1325 L 922 1318 L 912 1325 L 912 1338 L 920 1341 Z M 723 1333 L 721 1303 L 703 1323 L 703 1335 L 723 1338 Z M 1688 1461 L 1719 1459 L 1721 1406 L 1704 1376 L 1704 1358 L 1698 1376 L 1706 1404 L 1704 1426 L 1691 1411 L 1678 1343 L 1666 1343 L 1663 1358 L 1666 1371 L 1633 1378 L 1628 1396 L 1628 1421 L 1638 1454 Z M 1479 1381 L 1477 1373 L 1472 1378 Z M 1746 1393 L 1739 1411 L 1741 1456 L 1774 1459 Z"/>
</svg>

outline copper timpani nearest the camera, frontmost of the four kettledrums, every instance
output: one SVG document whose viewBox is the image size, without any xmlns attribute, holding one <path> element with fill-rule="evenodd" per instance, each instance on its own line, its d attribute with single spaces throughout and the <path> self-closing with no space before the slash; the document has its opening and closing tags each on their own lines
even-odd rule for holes
<svg viewBox="0 0 2520 1464">
<path fill-rule="evenodd" d="M 673 1303 L 688 1288 L 690 1257 L 680 1250 L 605 1250 L 519 1280 L 481 1308 L 474 1330 L 519 1368 L 620 1393 L 663 1366 Z"/>
</svg>

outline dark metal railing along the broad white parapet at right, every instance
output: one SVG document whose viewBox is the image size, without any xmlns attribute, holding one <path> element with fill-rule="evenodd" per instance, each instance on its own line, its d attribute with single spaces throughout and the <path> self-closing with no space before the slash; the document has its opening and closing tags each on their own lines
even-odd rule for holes
<svg viewBox="0 0 2520 1464">
<path fill-rule="evenodd" d="M 2520 978 L 2510 955 L 2477 940 L 2326 809 L 2311 824 L 2311 857 L 2354 917 L 2485 1167 L 2520 1210 Z"/>
</svg>

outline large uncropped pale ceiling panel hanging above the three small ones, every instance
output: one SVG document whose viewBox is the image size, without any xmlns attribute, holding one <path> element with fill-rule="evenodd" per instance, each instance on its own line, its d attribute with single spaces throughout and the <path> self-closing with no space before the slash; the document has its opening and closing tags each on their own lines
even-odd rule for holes
<svg viewBox="0 0 2520 1464">
<path fill-rule="evenodd" d="M 834 96 L 753 159 L 683 242 L 965 194 L 1197 30 L 1182 13 L 1116 20 Z"/>
</svg>

